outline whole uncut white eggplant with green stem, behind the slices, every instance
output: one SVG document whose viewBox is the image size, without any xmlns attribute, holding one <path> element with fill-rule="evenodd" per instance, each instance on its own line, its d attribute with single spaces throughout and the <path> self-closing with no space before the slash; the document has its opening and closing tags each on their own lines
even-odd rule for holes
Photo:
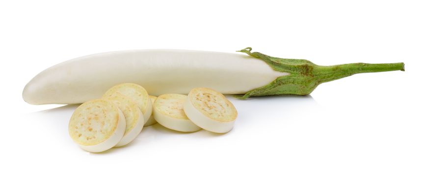
<svg viewBox="0 0 427 171">
<path fill-rule="evenodd" d="M 142 85 L 150 95 L 187 94 L 208 87 L 241 98 L 311 93 L 317 85 L 356 73 L 404 70 L 403 63 L 319 66 L 307 60 L 192 50 L 127 50 L 88 55 L 56 64 L 24 88 L 33 105 L 78 104 L 100 98 L 121 83 Z"/>
</svg>

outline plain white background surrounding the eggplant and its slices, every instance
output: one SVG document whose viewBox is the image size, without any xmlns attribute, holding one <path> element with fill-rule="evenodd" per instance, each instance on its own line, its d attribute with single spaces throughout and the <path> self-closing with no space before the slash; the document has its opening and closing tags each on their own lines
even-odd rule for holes
<svg viewBox="0 0 427 171">
<path fill-rule="evenodd" d="M 0 170 L 426 171 L 426 9 L 423 0 L 2 0 Z M 68 136 L 77 106 L 22 100 L 37 73 L 84 55 L 247 46 L 406 71 L 354 75 L 305 97 L 230 97 L 239 117 L 229 133 L 156 125 L 100 154 Z"/>
</svg>

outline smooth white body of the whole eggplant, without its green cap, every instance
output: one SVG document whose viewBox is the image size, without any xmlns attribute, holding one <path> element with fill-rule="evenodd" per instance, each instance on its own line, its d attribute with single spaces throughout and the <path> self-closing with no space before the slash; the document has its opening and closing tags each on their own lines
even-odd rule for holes
<svg viewBox="0 0 427 171">
<path fill-rule="evenodd" d="M 29 104 L 78 104 L 101 97 L 111 86 L 135 83 L 151 95 L 187 94 L 208 87 L 242 94 L 288 73 L 235 53 L 191 50 L 127 50 L 99 53 L 56 64 L 24 88 Z"/>
</svg>

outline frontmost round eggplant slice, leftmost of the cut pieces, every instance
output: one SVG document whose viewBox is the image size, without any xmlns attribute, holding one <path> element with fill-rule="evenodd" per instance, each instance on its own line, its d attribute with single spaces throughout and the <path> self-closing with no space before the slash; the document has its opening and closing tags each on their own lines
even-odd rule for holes
<svg viewBox="0 0 427 171">
<path fill-rule="evenodd" d="M 69 133 L 80 148 L 102 152 L 114 147 L 123 137 L 126 119 L 112 102 L 96 99 L 77 107 L 69 123 Z"/>
</svg>

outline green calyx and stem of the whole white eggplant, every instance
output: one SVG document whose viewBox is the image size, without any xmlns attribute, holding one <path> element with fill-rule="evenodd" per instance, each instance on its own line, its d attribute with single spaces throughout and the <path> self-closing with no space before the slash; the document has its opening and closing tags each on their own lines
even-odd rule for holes
<svg viewBox="0 0 427 171">
<path fill-rule="evenodd" d="M 272 69 L 287 72 L 289 75 L 277 77 L 271 83 L 246 92 L 239 99 L 247 99 L 250 96 L 267 96 L 280 94 L 310 94 L 318 85 L 358 73 L 404 71 L 403 63 L 392 64 L 339 64 L 332 66 L 320 66 L 308 60 L 283 59 L 267 56 L 259 52 L 251 52 L 251 47 L 246 47 L 237 52 L 243 52 L 251 57 L 263 60 Z"/>
</svg>

